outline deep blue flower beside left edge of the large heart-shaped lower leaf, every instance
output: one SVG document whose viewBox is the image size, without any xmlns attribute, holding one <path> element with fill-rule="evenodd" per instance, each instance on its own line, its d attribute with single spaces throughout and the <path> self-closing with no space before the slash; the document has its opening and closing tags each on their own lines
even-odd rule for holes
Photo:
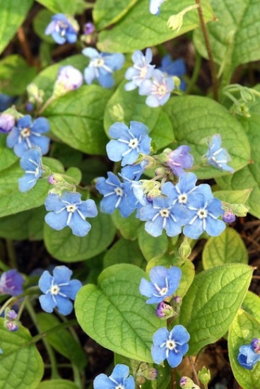
<svg viewBox="0 0 260 389">
<path fill-rule="evenodd" d="M 45 312 L 52 313 L 55 307 L 61 315 L 69 315 L 73 310 L 73 303 L 78 290 L 81 289 L 81 281 L 71 280 L 71 270 L 62 265 L 53 270 L 53 276 L 47 270 L 39 279 L 39 288 L 44 293 L 39 297 L 40 305 Z"/>
</svg>

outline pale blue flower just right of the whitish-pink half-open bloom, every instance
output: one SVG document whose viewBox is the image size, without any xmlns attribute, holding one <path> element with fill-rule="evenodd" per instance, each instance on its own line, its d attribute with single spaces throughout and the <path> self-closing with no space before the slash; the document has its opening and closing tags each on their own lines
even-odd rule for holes
<svg viewBox="0 0 260 389">
<path fill-rule="evenodd" d="M 85 82 L 90 84 L 93 80 L 98 79 L 98 82 L 104 88 L 113 86 L 113 72 L 122 68 L 124 54 L 98 52 L 93 47 L 87 47 L 82 52 L 86 57 L 90 58 L 90 63 L 84 70 Z"/>
</svg>

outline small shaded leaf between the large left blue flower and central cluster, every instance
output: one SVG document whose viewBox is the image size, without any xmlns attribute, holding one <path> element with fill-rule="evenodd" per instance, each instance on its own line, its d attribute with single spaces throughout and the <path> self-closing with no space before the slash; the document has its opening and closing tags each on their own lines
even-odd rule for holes
<svg viewBox="0 0 260 389">
<path fill-rule="evenodd" d="M 138 228 L 141 226 L 141 221 L 136 219 L 135 214 L 124 218 L 116 209 L 111 215 L 114 226 L 116 226 L 125 239 L 135 240 L 137 238 Z"/>
</svg>

